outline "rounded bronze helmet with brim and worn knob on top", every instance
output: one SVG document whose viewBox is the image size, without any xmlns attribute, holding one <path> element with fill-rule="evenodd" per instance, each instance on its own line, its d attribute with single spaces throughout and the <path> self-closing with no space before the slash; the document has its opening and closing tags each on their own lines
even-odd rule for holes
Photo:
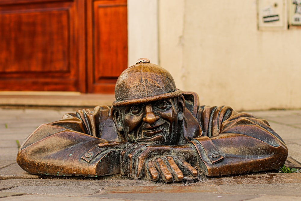
<svg viewBox="0 0 301 201">
<path fill-rule="evenodd" d="M 114 107 L 152 102 L 181 96 L 171 74 L 147 58 L 139 59 L 127 68 L 115 85 Z"/>
</svg>

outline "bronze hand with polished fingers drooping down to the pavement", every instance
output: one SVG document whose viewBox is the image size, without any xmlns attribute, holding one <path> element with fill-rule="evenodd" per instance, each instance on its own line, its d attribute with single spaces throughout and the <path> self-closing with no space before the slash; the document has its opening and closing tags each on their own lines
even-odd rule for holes
<svg viewBox="0 0 301 201">
<path fill-rule="evenodd" d="M 145 164 L 145 171 L 152 181 L 166 183 L 183 181 L 184 175 L 197 177 L 197 170 L 180 156 L 163 156 L 151 159 Z"/>
</svg>

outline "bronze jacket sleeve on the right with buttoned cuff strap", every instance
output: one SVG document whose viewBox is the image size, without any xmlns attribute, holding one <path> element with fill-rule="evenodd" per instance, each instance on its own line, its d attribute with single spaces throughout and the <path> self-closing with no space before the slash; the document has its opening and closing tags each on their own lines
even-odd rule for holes
<svg viewBox="0 0 301 201">
<path fill-rule="evenodd" d="M 208 176 L 266 171 L 285 163 L 287 147 L 263 119 L 226 106 L 202 106 L 197 121 L 202 136 L 190 143 Z"/>
</svg>

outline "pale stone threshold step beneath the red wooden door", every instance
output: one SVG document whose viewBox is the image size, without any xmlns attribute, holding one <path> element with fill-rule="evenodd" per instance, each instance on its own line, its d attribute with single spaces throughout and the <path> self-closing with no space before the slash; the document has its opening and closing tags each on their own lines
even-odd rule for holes
<svg viewBox="0 0 301 201">
<path fill-rule="evenodd" d="M 0 105 L 94 107 L 112 105 L 114 94 L 83 94 L 79 92 L 2 91 Z"/>
</svg>

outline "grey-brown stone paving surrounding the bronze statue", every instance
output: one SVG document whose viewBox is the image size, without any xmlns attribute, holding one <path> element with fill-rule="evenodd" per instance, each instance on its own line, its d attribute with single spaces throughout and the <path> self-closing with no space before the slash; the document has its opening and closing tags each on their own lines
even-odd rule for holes
<svg viewBox="0 0 301 201">
<path fill-rule="evenodd" d="M 120 175 L 99 179 L 39 177 L 16 163 L 18 145 L 42 123 L 75 108 L 0 108 L 0 200 L 301 200 L 301 174 L 277 171 L 202 177 L 194 183 L 153 183 Z M 249 111 L 269 121 L 301 162 L 301 110 Z M 300 164 L 299 164 L 300 165 Z"/>
</svg>

